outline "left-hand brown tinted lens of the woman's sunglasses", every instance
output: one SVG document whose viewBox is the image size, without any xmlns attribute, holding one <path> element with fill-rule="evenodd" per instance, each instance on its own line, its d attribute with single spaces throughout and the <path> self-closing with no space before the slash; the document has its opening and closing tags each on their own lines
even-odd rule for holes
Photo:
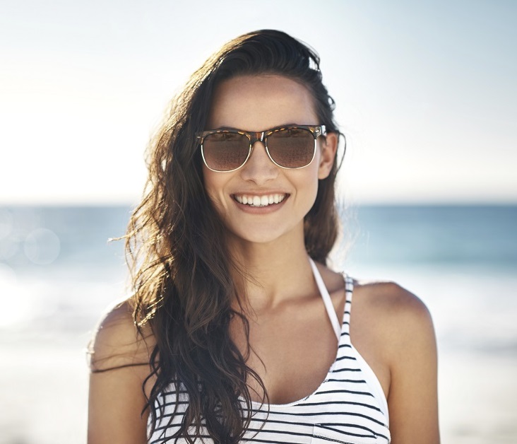
<svg viewBox="0 0 517 444">
<path fill-rule="evenodd" d="M 203 141 L 203 156 L 206 165 L 215 171 L 230 171 L 239 168 L 248 157 L 249 139 L 239 133 L 209 134 Z"/>
</svg>

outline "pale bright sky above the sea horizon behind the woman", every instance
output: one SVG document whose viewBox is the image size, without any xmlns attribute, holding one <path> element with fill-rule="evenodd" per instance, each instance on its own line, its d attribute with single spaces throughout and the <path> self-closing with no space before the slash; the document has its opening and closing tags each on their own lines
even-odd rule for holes
<svg viewBox="0 0 517 444">
<path fill-rule="evenodd" d="M 227 40 L 321 56 L 343 197 L 517 202 L 513 0 L 0 0 L 0 205 L 134 204 L 167 103 Z"/>
</svg>

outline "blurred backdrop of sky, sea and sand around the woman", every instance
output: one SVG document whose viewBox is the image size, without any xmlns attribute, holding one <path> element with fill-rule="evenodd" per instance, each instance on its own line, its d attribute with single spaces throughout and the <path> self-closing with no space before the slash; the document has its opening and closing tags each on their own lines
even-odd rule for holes
<svg viewBox="0 0 517 444">
<path fill-rule="evenodd" d="M 309 43 L 347 137 L 334 266 L 434 317 L 442 443 L 517 442 L 511 0 L 0 1 L 0 444 L 85 443 L 85 347 L 126 294 L 143 151 L 222 43 Z"/>
</svg>

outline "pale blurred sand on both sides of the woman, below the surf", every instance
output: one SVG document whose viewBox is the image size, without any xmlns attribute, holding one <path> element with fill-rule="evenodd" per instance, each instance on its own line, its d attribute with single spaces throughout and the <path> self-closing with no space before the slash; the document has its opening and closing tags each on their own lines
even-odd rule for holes
<svg viewBox="0 0 517 444">
<path fill-rule="evenodd" d="M 0 444 L 84 444 L 88 334 L 0 344 Z M 517 358 L 441 354 L 442 444 L 517 443 Z"/>
</svg>

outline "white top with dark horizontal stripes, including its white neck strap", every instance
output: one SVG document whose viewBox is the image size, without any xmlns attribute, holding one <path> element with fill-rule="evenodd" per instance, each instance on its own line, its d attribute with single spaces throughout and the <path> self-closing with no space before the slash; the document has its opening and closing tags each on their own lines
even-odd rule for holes
<svg viewBox="0 0 517 444">
<path fill-rule="evenodd" d="M 340 322 L 318 269 L 311 259 L 309 261 L 338 337 L 337 356 L 325 380 L 311 395 L 290 404 L 253 402 L 251 423 L 242 443 L 388 444 L 386 397 L 372 368 L 350 341 L 353 281 L 344 276 L 346 301 Z M 177 411 L 174 414 L 175 404 Z M 186 393 L 180 391 L 177 397 L 174 385 L 160 394 L 155 404 L 158 420 L 149 438 L 150 444 L 186 443 L 183 438 L 174 440 L 170 437 L 178 430 L 187 404 Z M 162 411 L 160 406 L 165 410 Z M 205 434 L 197 438 L 196 443 L 213 444 L 213 440 Z"/>
</svg>

